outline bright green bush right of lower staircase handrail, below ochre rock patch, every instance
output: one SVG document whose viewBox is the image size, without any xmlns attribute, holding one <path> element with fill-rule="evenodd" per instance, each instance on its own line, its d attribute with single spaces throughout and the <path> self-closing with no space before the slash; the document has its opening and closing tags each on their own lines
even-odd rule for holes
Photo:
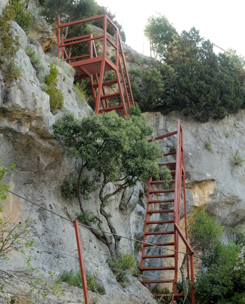
<svg viewBox="0 0 245 304">
<path fill-rule="evenodd" d="M 204 209 L 194 210 L 189 220 L 188 237 L 197 252 L 208 253 L 220 242 L 224 227 L 216 224 Z"/>
</svg>

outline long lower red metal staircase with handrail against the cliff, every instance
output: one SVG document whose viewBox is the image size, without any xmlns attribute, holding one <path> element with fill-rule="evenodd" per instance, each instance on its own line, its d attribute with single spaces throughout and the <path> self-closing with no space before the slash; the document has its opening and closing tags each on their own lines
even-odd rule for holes
<svg viewBox="0 0 245 304">
<path fill-rule="evenodd" d="M 161 234 L 174 234 L 174 242 L 167 242 L 167 243 L 156 243 L 154 245 L 158 246 L 173 246 L 174 245 L 174 253 L 167 254 L 167 255 L 145 255 L 145 248 L 149 247 L 150 245 L 143 244 L 142 247 L 142 255 L 141 255 L 141 265 L 140 268 L 142 271 L 147 270 L 174 270 L 174 280 L 167 279 L 167 281 L 174 281 L 173 282 L 173 294 L 172 296 L 172 303 L 176 303 L 176 297 L 185 296 L 185 294 L 177 294 L 177 283 L 178 282 L 178 257 L 179 257 L 179 237 L 182 239 L 184 244 L 186 245 L 186 250 L 190 253 L 190 258 L 187 259 L 187 277 L 191 279 L 191 293 L 192 293 L 192 304 L 195 304 L 195 294 L 194 294 L 194 267 L 193 267 L 193 254 L 194 251 L 191 248 L 188 242 L 188 235 L 187 235 L 187 206 L 186 206 L 186 189 L 185 189 L 185 169 L 184 169 L 184 151 L 183 151 L 183 132 L 180 124 L 180 120 L 178 120 L 177 131 L 161 135 L 156 137 L 156 140 L 166 138 L 171 135 L 177 134 L 177 145 L 176 151 L 166 153 L 164 156 L 170 154 L 176 154 L 176 162 L 168 162 L 166 164 L 159 164 L 159 165 L 166 165 L 172 174 L 175 176 L 175 179 L 171 181 L 171 183 L 175 184 L 174 189 L 163 189 L 163 190 L 152 190 L 152 185 L 154 184 L 164 184 L 164 181 L 153 181 L 152 177 L 149 180 L 149 189 L 148 189 L 148 198 L 147 198 L 147 206 L 146 206 L 146 215 L 145 215 L 145 229 L 144 229 L 144 237 L 143 242 L 146 242 L 147 235 L 161 235 Z M 152 139 L 149 139 L 149 142 L 152 142 Z M 183 182 L 183 199 L 184 199 L 184 219 L 185 219 L 185 235 L 179 228 L 180 222 L 180 202 L 181 202 L 181 186 Z M 159 194 L 159 193 L 171 193 L 174 192 L 174 199 L 160 199 L 160 200 L 151 200 L 151 195 Z M 163 210 L 149 210 L 150 204 L 156 203 L 174 203 L 173 209 L 163 209 Z M 153 213 L 173 213 L 172 220 L 165 220 L 165 221 L 149 221 L 149 215 Z M 169 224 L 173 223 L 173 231 L 157 231 L 157 232 L 147 232 L 148 225 L 151 224 Z M 174 266 L 163 266 L 163 267 L 144 267 L 144 260 L 150 258 L 174 258 Z M 141 283 L 167 283 L 164 280 L 143 280 Z M 156 294 L 155 297 L 162 297 L 162 296 L 169 296 L 167 294 Z"/>
</svg>

